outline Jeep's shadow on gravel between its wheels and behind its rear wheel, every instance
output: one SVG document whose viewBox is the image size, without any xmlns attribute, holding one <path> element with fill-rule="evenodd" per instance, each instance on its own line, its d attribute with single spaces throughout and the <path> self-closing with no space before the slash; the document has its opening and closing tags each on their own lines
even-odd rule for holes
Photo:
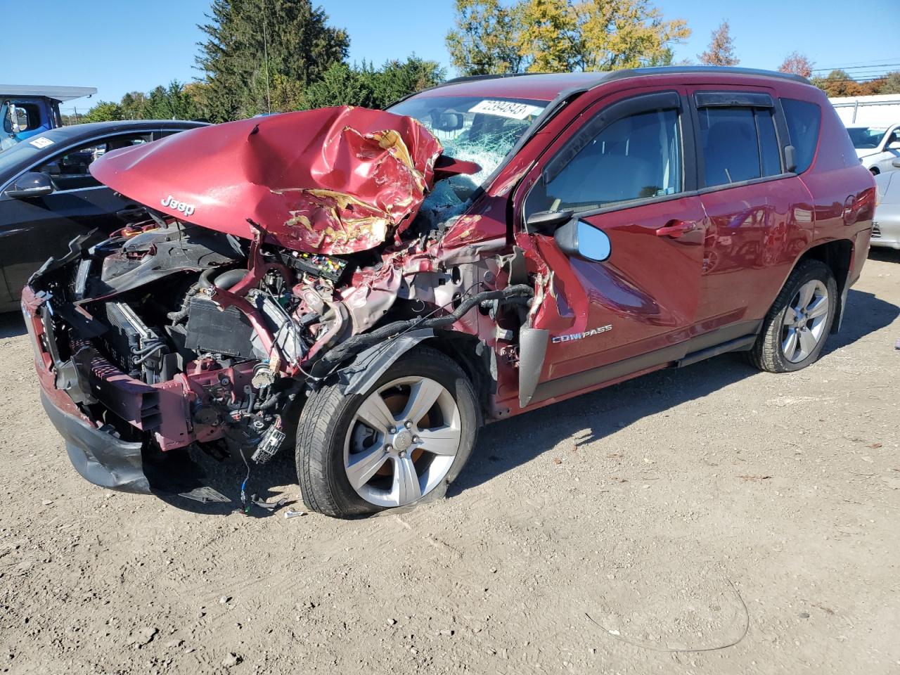
<svg viewBox="0 0 900 675">
<path fill-rule="evenodd" d="M 847 347 L 869 333 L 889 325 L 900 308 L 872 293 L 851 290 L 841 332 L 826 343 L 823 356 Z M 894 348 L 894 338 L 884 345 Z M 900 338 L 900 336 L 896 336 Z M 743 355 L 723 355 L 681 369 L 656 371 L 599 392 L 505 419 L 482 428 L 472 459 L 447 490 L 452 497 L 525 464 L 571 439 L 559 456 L 579 446 L 606 438 L 650 415 L 668 415 L 685 401 L 700 399 L 758 371 Z M 608 447 L 610 453 L 617 446 Z"/>
</svg>

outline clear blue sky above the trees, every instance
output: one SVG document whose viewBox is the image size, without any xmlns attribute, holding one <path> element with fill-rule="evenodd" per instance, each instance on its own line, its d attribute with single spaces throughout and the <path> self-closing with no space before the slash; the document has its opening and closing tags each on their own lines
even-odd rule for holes
<svg viewBox="0 0 900 675">
<path fill-rule="evenodd" d="M 452 0 L 325 0 L 320 4 L 333 25 L 349 31 L 350 60 L 365 58 L 381 64 L 415 52 L 441 62 L 454 75 L 444 46 L 444 35 L 453 25 Z M 96 86 L 95 99 L 117 101 L 128 91 L 148 91 L 173 78 L 197 76 L 193 57 L 202 34 L 196 24 L 203 22 L 209 0 L 45 0 L 40 14 L 14 0 L 0 0 L 0 7 L 4 5 L 7 9 L 28 6 L 28 18 L 17 21 L 15 30 L 4 31 L 6 65 L 0 80 L 8 84 Z M 696 59 L 706 48 L 710 32 L 728 19 L 742 66 L 776 68 L 793 49 L 806 53 L 816 67 L 900 63 L 896 0 L 720 0 L 717 4 L 657 0 L 656 5 L 667 18 L 686 19 L 693 30 L 686 43 L 676 46 L 677 59 Z M 869 28 L 860 31 L 861 25 Z M 76 103 L 86 107 L 94 101 Z"/>
</svg>

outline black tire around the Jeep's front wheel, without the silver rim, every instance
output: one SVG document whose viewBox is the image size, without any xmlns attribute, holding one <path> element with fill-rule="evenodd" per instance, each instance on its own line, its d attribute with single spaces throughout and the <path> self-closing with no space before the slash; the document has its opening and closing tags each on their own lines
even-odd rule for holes
<svg viewBox="0 0 900 675">
<path fill-rule="evenodd" d="M 364 500 L 347 479 L 344 442 L 356 410 L 372 393 L 392 380 L 423 376 L 440 383 L 453 396 L 461 421 L 460 448 L 441 484 L 453 482 L 472 454 L 481 414 L 472 383 L 463 369 L 442 352 L 416 347 L 401 356 L 363 394 L 345 396 L 338 383 L 313 393 L 303 407 L 297 428 L 296 461 L 303 503 L 307 509 L 335 518 L 349 518 L 381 511 L 384 507 Z M 437 491 L 437 487 L 422 495 Z"/>
</svg>

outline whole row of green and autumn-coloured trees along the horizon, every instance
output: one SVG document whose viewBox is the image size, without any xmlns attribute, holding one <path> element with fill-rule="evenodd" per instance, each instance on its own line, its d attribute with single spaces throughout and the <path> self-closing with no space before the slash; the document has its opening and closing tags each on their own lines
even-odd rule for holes
<svg viewBox="0 0 900 675">
<path fill-rule="evenodd" d="M 666 66 L 691 32 L 651 0 L 455 0 L 455 14 L 446 47 L 461 75 Z M 77 121 L 219 122 L 328 105 L 383 108 L 446 77 L 436 61 L 415 55 L 381 67 L 348 64 L 347 31 L 330 25 L 311 0 L 212 0 L 206 20 L 196 81 L 100 101 Z M 728 22 L 712 32 L 698 60 L 740 63 Z M 900 93 L 898 72 L 858 82 L 842 70 L 813 77 L 813 66 L 794 52 L 779 69 L 811 78 L 831 96 Z"/>
</svg>

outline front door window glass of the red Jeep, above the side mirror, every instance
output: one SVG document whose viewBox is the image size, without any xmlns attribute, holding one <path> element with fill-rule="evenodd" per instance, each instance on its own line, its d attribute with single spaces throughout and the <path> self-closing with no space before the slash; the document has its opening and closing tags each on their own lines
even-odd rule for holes
<svg viewBox="0 0 900 675">
<path fill-rule="evenodd" d="M 591 210 L 680 193 L 678 112 L 641 112 L 614 121 L 546 185 L 528 195 L 526 212 Z"/>
</svg>

